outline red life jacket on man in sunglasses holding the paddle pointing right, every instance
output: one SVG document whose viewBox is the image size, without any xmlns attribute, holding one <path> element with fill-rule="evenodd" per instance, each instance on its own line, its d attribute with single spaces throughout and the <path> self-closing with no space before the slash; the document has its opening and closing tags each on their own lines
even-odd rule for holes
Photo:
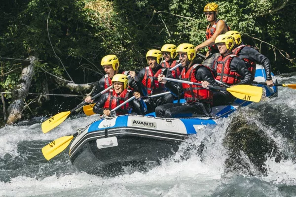
<svg viewBox="0 0 296 197">
<path fill-rule="evenodd" d="M 191 81 L 194 83 L 201 83 L 201 81 L 198 81 L 195 78 L 195 71 L 202 66 L 203 65 L 193 65 L 187 70 L 187 72 L 185 71 L 186 69 L 184 68 L 181 73 L 182 80 Z M 207 66 L 203 66 L 203 67 L 208 68 Z M 215 78 L 212 70 L 210 68 L 208 69 L 211 71 L 213 78 Z M 186 100 L 186 102 L 190 103 L 190 102 L 203 101 L 203 102 L 212 103 L 212 100 L 213 100 L 212 91 L 202 88 L 202 86 L 198 86 L 198 85 L 182 83 L 182 86 L 184 89 L 184 99 Z"/>
</svg>

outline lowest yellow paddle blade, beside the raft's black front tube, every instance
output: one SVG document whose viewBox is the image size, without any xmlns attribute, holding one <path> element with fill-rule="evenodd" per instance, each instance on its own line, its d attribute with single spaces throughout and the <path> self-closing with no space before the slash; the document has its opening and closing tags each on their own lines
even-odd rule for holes
<svg viewBox="0 0 296 197">
<path fill-rule="evenodd" d="M 67 146 L 70 144 L 73 137 L 73 135 L 60 137 L 44 146 L 42 148 L 42 154 L 45 157 L 45 159 L 50 160 L 51 158 L 65 150 Z"/>
</svg>

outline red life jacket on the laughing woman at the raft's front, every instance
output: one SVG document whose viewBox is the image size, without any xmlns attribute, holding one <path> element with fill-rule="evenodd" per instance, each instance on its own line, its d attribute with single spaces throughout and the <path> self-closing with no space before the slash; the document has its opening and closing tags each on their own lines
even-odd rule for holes
<svg viewBox="0 0 296 197">
<path fill-rule="evenodd" d="M 125 100 L 128 99 L 128 95 L 131 92 L 131 90 L 125 89 L 120 93 L 118 96 L 113 89 L 109 92 L 109 97 L 105 102 L 105 105 L 103 108 L 112 110 L 121 103 L 123 103 Z M 123 114 L 130 114 L 132 108 L 130 107 L 129 103 L 126 103 L 125 105 L 121 106 L 119 109 L 116 110 L 116 115 L 123 115 Z"/>
</svg>

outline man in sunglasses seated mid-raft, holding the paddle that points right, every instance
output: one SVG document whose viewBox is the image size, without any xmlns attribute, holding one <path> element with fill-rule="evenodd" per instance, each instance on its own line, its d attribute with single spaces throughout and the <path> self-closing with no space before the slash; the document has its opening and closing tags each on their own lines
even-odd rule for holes
<svg viewBox="0 0 296 197">
<path fill-rule="evenodd" d="M 178 84 L 174 86 L 171 81 L 162 79 L 163 74 L 158 75 L 158 81 L 165 84 L 166 88 L 174 95 L 184 92 L 185 103 L 168 103 L 155 108 L 156 117 L 176 118 L 208 116 L 211 112 L 213 92 L 206 89 L 208 85 L 216 85 L 215 73 L 207 66 L 196 64 L 196 52 L 192 44 L 180 44 L 176 52 L 182 63 L 182 80 L 201 83 L 199 85 Z"/>
</svg>

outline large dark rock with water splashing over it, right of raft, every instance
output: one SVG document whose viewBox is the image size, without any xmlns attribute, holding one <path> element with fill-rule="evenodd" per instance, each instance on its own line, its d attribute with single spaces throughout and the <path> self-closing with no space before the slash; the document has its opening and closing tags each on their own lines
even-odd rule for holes
<svg viewBox="0 0 296 197">
<path fill-rule="evenodd" d="M 266 172 L 264 162 L 268 157 L 282 159 L 282 153 L 275 142 L 253 121 L 239 114 L 229 124 L 223 145 L 228 149 L 225 172 L 239 171 L 254 175 Z"/>
</svg>

